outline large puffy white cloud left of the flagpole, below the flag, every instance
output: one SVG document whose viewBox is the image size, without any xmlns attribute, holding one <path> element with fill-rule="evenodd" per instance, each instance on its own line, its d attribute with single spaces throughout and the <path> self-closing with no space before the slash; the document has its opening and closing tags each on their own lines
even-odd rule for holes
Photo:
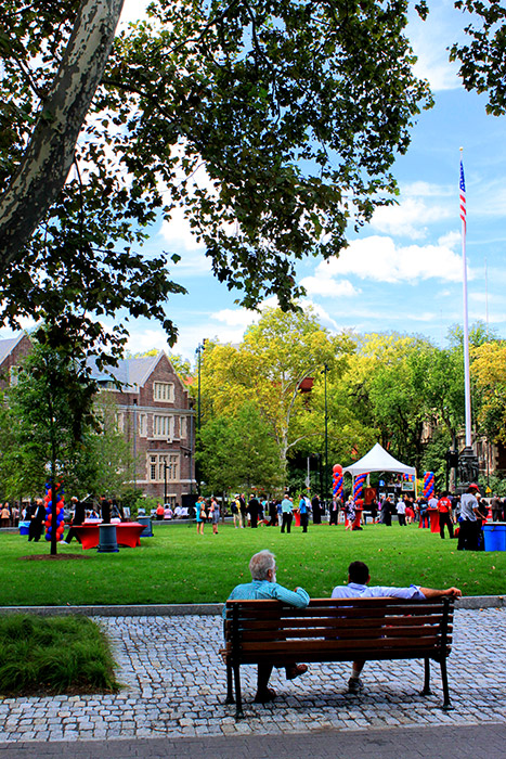
<svg viewBox="0 0 506 759">
<path fill-rule="evenodd" d="M 397 246 L 391 237 L 373 235 L 350 243 L 339 258 L 316 267 L 319 278 L 342 274 L 390 283 L 428 279 L 457 282 L 462 279 L 462 260 L 445 245 Z"/>
</svg>

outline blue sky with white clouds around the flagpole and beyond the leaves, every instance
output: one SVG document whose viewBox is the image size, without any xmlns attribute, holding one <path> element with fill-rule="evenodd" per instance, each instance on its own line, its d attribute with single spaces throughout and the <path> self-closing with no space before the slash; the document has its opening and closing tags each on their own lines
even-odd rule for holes
<svg viewBox="0 0 506 759">
<path fill-rule="evenodd" d="M 141 4 L 127 0 L 125 16 L 138 15 Z M 488 316 L 490 326 L 506 336 L 506 120 L 488 116 L 486 99 L 467 93 L 456 66 L 447 62 L 446 48 L 462 39 L 467 18 L 447 0 L 429 4 L 429 20 L 414 18 L 410 37 L 418 55 L 417 73 L 429 79 L 436 105 L 419 115 L 408 152 L 395 163 L 399 205 L 378 210 L 368 227 L 351 234 L 339 259 L 301 262 L 298 279 L 322 324 L 332 331 L 394 330 L 444 345 L 447 329 L 463 320 L 460 146 L 467 189 L 469 321 L 484 321 Z M 148 248 L 182 256 L 172 275 L 189 295 L 173 297 L 167 307 L 180 333 L 173 351 L 194 359 L 204 337 L 239 342 L 258 314 L 237 308 L 236 294 L 212 278 L 182 216 L 154 227 Z M 156 323 L 140 320 L 131 327 L 130 350 L 167 348 Z"/>
</svg>

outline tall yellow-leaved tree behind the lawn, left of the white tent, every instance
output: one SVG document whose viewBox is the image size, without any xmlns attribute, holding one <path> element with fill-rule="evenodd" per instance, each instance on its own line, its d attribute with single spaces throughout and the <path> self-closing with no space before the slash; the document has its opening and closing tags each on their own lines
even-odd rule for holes
<svg viewBox="0 0 506 759">
<path fill-rule="evenodd" d="M 211 398 L 215 413 L 234 413 L 245 400 L 255 401 L 286 467 L 289 451 L 322 432 L 321 425 L 301 421 L 311 406 L 304 381 L 322 382 L 325 363 L 333 368 L 352 342 L 346 334 L 330 335 L 310 308 L 288 313 L 267 309 L 238 348 L 211 348 L 204 355 L 205 404 Z"/>
</svg>

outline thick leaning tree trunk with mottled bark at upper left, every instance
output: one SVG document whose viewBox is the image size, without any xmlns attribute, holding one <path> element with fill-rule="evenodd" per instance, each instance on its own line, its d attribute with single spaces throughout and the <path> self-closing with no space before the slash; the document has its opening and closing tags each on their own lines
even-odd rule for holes
<svg viewBox="0 0 506 759">
<path fill-rule="evenodd" d="M 0 272 L 23 248 L 62 190 L 111 53 L 124 0 L 82 0 L 62 63 L 24 157 L 0 196 Z"/>
</svg>

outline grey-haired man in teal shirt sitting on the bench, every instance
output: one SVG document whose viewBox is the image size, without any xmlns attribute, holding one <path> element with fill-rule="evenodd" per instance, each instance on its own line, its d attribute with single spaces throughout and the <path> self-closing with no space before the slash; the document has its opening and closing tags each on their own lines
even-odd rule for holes
<svg viewBox="0 0 506 759">
<path fill-rule="evenodd" d="M 229 601 L 234 599 L 276 599 L 283 604 L 304 608 L 309 604 L 309 595 L 302 588 L 296 588 L 295 591 L 283 588 L 276 582 L 276 558 L 270 551 L 260 551 L 256 553 L 249 562 L 249 571 L 251 573 L 251 582 L 245 582 L 236 586 L 229 595 Z M 223 616 L 225 609 L 223 607 Z M 258 665 L 257 695 L 255 702 L 257 704 L 265 704 L 276 697 L 276 693 L 272 687 L 268 687 L 269 678 L 271 677 L 273 665 Z M 308 671 L 307 665 L 288 665 L 286 667 L 286 679 L 295 680 L 299 676 Z"/>
</svg>

